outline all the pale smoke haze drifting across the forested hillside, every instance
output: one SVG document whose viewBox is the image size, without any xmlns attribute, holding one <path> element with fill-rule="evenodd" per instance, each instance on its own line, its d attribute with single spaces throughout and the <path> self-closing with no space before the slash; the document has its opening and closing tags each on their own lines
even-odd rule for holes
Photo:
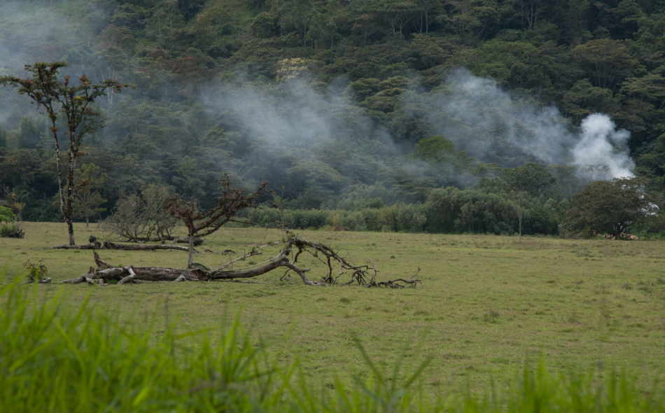
<svg viewBox="0 0 665 413">
<path fill-rule="evenodd" d="M 73 66 L 64 71 L 97 74 L 99 68 L 90 65 L 95 59 L 90 57 L 92 50 L 87 44 L 94 32 L 101 31 L 104 10 L 90 6 L 83 11 L 99 15 L 97 20 L 86 17 L 98 21 L 97 28 L 72 25 L 70 19 L 54 18 L 49 13 L 48 8 L 0 0 L 0 20 L 6 28 L 0 32 L 0 73 L 18 74 L 27 62 L 71 60 L 76 56 L 71 52 L 66 56 L 66 52 L 76 43 L 85 58 L 71 62 Z M 340 153 L 344 147 L 367 146 L 368 158 L 394 161 L 392 165 L 402 165 L 413 176 L 421 174 L 417 162 L 397 161 L 407 155 L 415 141 L 408 142 L 395 132 L 391 136 L 388 123 L 394 113 L 377 120 L 353 104 L 356 97 L 349 80 L 340 78 L 322 86 L 307 73 L 301 77 L 274 83 L 240 80 L 209 85 L 199 99 L 210 121 L 222 120 L 227 132 L 244 135 L 239 144 L 253 153 L 269 150 L 288 155 L 296 151 L 300 158 L 326 162 L 344 175 L 342 169 L 349 159 L 338 159 L 331 165 L 330 156 L 325 154 L 330 141 L 335 141 L 339 144 L 335 151 Z M 614 177 L 632 176 L 634 164 L 627 151 L 630 133 L 616 130 L 607 115 L 595 113 L 576 128 L 554 106 L 506 92 L 495 80 L 474 76 L 466 69 L 448 73 L 447 80 L 430 92 L 422 92 L 417 85 L 406 87 L 401 98 L 404 111 L 407 116 L 421 118 L 430 132 L 420 137 L 441 134 L 477 160 L 497 162 L 501 167 L 517 167 L 525 161 L 582 168 L 608 165 Z M 13 91 L 3 90 L 3 97 L 0 123 L 5 127 L 18 127 L 22 114 L 34 113 L 27 99 Z M 125 95 L 118 99 L 121 102 Z M 110 136 L 112 128 L 106 132 Z M 269 149 L 262 144 L 268 144 Z M 263 166 L 260 163 L 256 165 L 259 169 Z M 376 165 L 368 169 L 365 182 L 379 179 Z M 352 172 L 354 181 L 360 179 L 358 173 Z M 470 183 L 461 178 L 456 182 Z"/>
</svg>

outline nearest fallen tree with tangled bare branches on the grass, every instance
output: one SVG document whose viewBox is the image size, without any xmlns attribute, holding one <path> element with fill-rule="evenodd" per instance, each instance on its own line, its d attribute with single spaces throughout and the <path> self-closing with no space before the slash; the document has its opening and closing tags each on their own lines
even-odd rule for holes
<svg viewBox="0 0 665 413">
<path fill-rule="evenodd" d="M 262 249 L 268 246 L 275 246 L 283 244 L 283 248 L 279 254 L 260 262 L 258 264 L 250 265 L 248 267 L 234 268 L 237 262 L 244 260 L 244 258 L 262 255 Z M 310 269 L 298 267 L 297 260 L 302 253 L 309 253 L 318 260 L 321 260 L 328 267 L 328 274 L 321 277 L 321 281 L 311 281 L 306 272 Z M 346 258 L 339 255 L 339 253 L 332 250 L 332 248 L 323 244 L 318 244 L 306 241 L 297 235 L 287 233 L 286 239 L 268 243 L 264 246 L 254 247 L 245 255 L 230 260 L 225 265 L 212 269 L 206 265 L 195 263 L 189 268 L 169 268 L 169 267 L 134 267 L 128 265 L 126 267 L 117 267 L 109 265 L 99 258 L 97 251 L 93 252 L 94 262 L 97 268 L 90 267 L 87 274 L 83 274 L 73 279 L 61 281 L 61 283 L 83 283 L 107 285 L 106 281 L 118 281 L 118 285 L 125 283 L 141 283 L 141 282 L 178 282 L 178 281 L 237 281 L 242 279 L 250 279 L 255 276 L 267 274 L 278 268 L 286 268 L 286 272 L 281 276 L 281 279 L 286 279 L 289 272 L 295 272 L 300 276 L 302 282 L 307 286 L 332 286 L 337 283 L 342 274 L 351 273 L 351 279 L 342 285 L 349 285 L 351 283 L 358 283 L 365 287 L 388 287 L 388 288 L 415 288 L 421 279 L 415 279 L 415 275 L 408 279 L 393 279 L 388 281 L 377 281 L 377 269 L 374 267 L 372 260 L 372 275 L 370 276 L 369 265 L 353 265 Z M 339 265 L 339 272 L 336 276 L 332 275 L 333 268 Z M 416 272 L 419 274 L 420 269 Z"/>
</svg>

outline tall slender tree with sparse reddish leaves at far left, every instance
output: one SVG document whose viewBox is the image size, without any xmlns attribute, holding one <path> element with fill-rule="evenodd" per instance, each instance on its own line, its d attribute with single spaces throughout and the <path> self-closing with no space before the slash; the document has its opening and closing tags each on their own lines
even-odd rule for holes
<svg viewBox="0 0 665 413">
<path fill-rule="evenodd" d="M 72 225 L 74 198 L 76 188 L 74 183 L 74 171 L 76 162 L 80 158 L 81 141 L 86 134 L 92 134 L 100 127 L 104 127 L 104 120 L 99 111 L 92 109 L 94 100 L 105 96 L 107 92 L 118 92 L 130 85 L 120 84 L 113 79 L 106 79 L 102 83 L 92 83 L 83 75 L 78 83 L 70 84 L 69 76 L 64 81 L 58 80 L 58 69 L 67 66 L 66 62 L 39 62 L 26 64 L 25 71 L 31 73 L 31 78 L 16 78 L 13 76 L 0 76 L 0 84 L 18 87 L 19 94 L 27 94 L 37 104 L 37 109 L 43 108 L 50 119 L 49 130 L 55 139 L 55 165 L 57 174 L 58 190 L 60 195 L 60 211 L 64 215 L 64 221 L 69 230 L 69 245 L 74 242 L 74 230 Z M 69 139 L 67 149 L 67 176 L 66 185 L 62 182 L 60 170 L 60 141 L 62 137 L 58 134 L 58 121 L 61 120 L 66 126 L 64 133 Z"/>
</svg>

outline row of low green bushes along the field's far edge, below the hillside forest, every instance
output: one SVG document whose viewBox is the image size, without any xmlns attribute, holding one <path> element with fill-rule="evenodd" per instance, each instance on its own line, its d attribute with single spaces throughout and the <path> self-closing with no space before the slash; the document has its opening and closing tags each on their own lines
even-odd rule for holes
<svg viewBox="0 0 665 413">
<path fill-rule="evenodd" d="M 552 202 L 522 202 L 527 235 L 559 233 L 559 217 L 566 210 Z M 526 205 L 526 208 L 525 208 Z M 431 190 L 423 204 L 382 206 L 381 198 L 362 197 L 337 204 L 346 209 L 281 209 L 262 207 L 242 216 L 260 225 L 287 228 L 332 228 L 350 231 L 377 232 L 471 232 L 511 235 L 518 230 L 518 202 L 514 194 L 483 188 L 459 190 L 454 187 Z"/>
</svg>

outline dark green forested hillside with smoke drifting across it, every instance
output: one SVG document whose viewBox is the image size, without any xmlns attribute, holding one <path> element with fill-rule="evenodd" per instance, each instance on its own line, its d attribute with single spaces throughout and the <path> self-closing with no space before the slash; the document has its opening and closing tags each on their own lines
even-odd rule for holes
<svg viewBox="0 0 665 413">
<path fill-rule="evenodd" d="M 511 232 L 526 209 L 556 233 L 584 183 L 663 189 L 664 52 L 650 0 L 0 1 L 0 75 L 136 85 L 80 159 L 101 216 L 151 184 L 211 204 L 227 173 L 295 227 Z M 0 90 L 0 199 L 28 221 L 61 218 L 45 120 Z"/>
</svg>

